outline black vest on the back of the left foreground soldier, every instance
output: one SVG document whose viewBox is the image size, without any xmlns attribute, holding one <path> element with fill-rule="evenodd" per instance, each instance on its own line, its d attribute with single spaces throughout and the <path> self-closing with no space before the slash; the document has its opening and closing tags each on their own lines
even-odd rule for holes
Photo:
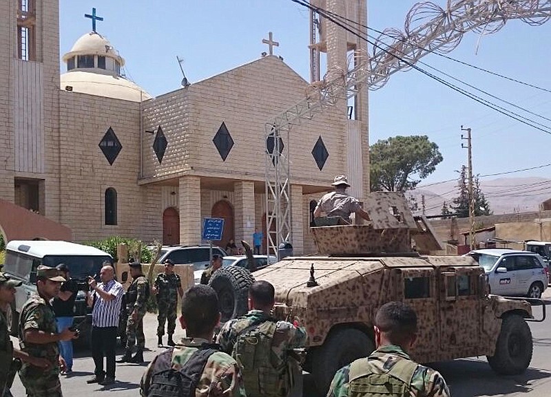
<svg viewBox="0 0 551 397">
<path fill-rule="evenodd" d="M 152 370 L 147 397 L 195 397 L 195 390 L 211 354 L 220 346 L 203 343 L 179 370 L 172 368 L 174 347 L 159 354 Z"/>
</svg>

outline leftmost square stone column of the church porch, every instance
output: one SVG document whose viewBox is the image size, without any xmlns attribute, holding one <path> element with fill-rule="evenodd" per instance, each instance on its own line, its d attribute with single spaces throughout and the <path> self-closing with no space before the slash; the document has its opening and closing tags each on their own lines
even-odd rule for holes
<svg viewBox="0 0 551 397">
<path fill-rule="evenodd" d="M 200 244 L 201 179 L 198 176 L 183 176 L 178 180 L 178 206 L 180 207 L 180 244 Z"/>
</svg>

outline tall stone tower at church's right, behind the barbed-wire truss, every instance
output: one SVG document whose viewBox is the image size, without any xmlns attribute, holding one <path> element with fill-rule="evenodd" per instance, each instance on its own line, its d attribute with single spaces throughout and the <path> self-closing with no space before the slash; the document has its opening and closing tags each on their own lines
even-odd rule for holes
<svg viewBox="0 0 551 397">
<path fill-rule="evenodd" d="M 315 7 L 346 19 L 344 24 L 359 36 L 367 36 L 366 0 L 311 0 Z M 353 21 L 353 22 L 351 22 Z M 359 56 L 362 55 L 363 58 Z M 310 13 L 310 60 L 311 82 L 320 81 L 326 72 L 346 72 L 362 59 L 366 61 L 367 42 L 352 32 L 322 17 L 318 12 Z M 326 70 L 321 67 L 326 65 Z M 337 105 L 342 117 L 347 118 L 346 153 L 351 193 L 365 197 L 369 191 L 369 142 L 368 142 L 368 89 Z"/>
</svg>

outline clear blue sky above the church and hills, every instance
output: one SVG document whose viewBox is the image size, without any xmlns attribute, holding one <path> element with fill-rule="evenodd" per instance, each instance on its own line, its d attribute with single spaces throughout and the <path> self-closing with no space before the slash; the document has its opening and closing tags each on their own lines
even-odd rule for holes
<svg viewBox="0 0 551 397">
<path fill-rule="evenodd" d="M 369 25 L 377 30 L 402 29 L 414 3 L 369 1 Z M 446 5 L 444 0 L 435 3 Z M 105 19 L 98 21 L 98 32 L 125 58 L 127 76 L 153 95 L 180 87 L 177 55 L 185 59 L 183 66 L 193 83 L 260 57 L 267 51 L 261 41 L 269 31 L 280 43 L 275 54 L 309 79 L 309 14 L 290 0 L 61 0 L 61 54 L 68 52 L 82 34 L 90 32 L 91 21 L 83 15 L 91 13 L 92 7 Z M 551 21 L 537 27 L 509 21 L 497 34 L 466 34 L 449 55 L 551 89 L 550 38 Z M 423 61 L 551 118 L 548 92 L 504 81 L 433 54 Z M 61 69 L 65 71 L 64 65 Z M 549 121 L 538 121 L 551 126 Z M 466 164 L 461 125 L 472 128 L 473 169 L 477 174 L 551 163 L 545 149 L 551 146 L 551 135 L 497 114 L 415 70 L 394 74 L 386 86 L 370 93 L 371 143 L 396 135 L 426 134 L 439 145 L 444 161 L 424 184 L 457 178 L 455 170 Z M 510 176 L 550 175 L 551 167 L 545 167 Z"/>
</svg>

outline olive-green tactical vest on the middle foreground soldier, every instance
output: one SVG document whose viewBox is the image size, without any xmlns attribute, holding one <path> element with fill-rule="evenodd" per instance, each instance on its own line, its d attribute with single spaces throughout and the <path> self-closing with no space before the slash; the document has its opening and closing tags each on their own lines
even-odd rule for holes
<svg viewBox="0 0 551 397">
<path fill-rule="evenodd" d="M 236 324 L 239 327 L 239 321 Z M 271 361 L 271 343 L 277 323 L 273 319 L 238 330 L 231 356 L 238 362 L 247 396 L 284 397 L 291 389 L 286 363 Z"/>
</svg>

